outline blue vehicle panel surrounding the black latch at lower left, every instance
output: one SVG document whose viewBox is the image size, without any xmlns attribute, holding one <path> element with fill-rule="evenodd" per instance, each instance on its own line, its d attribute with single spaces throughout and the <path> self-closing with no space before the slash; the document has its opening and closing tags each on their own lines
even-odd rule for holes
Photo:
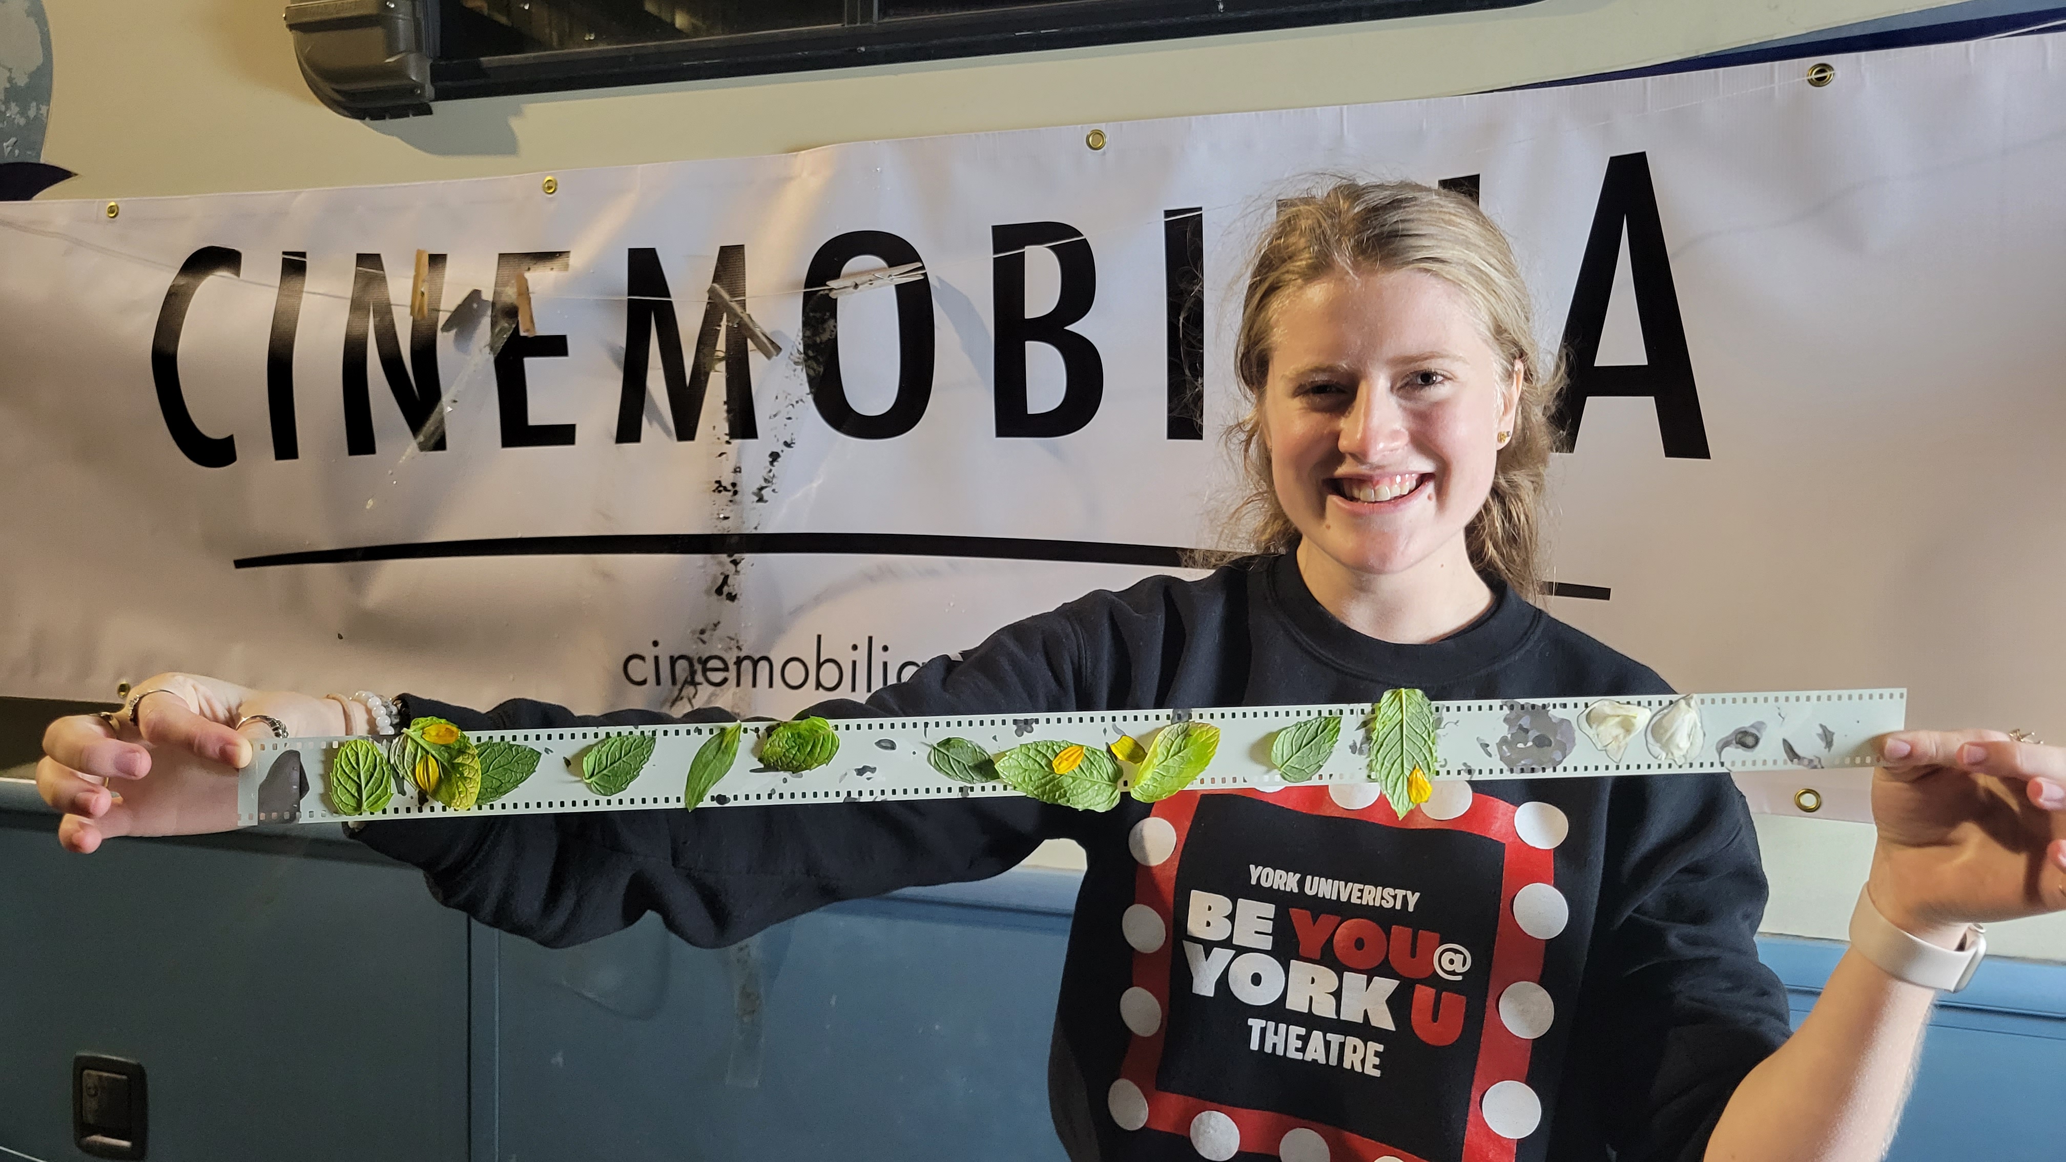
<svg viewBox="0 0 2066 1162">
<path fill-rule="evenodd" d="M 467 922 L 421 875 L 54 823 L 0 813 L 0 1145 L 81 1158 L 103 1052 L 145 1065 L 151 1162 L 465 1158 Z"/>
</svg>

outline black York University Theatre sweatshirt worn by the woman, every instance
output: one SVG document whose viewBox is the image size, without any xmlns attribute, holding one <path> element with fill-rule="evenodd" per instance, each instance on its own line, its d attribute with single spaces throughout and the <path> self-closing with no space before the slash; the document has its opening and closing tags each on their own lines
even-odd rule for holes
<svg viewBox="0 0 2066 1162">
<path fill-rule="evenodd" d="M 1328 614 L 1289 556 L 1254 558 L 1091 593 L 814 713 L 1345 703 L 1415 686 L 1514 699 L 1502 751 L 1519 761 L 1570 732 L 1527 699 L 1669 691 L 1496 593 L 1444 641 L 1390 645 Z M 674 722 L 405 705 L 467 730 Z M 1227 1158 L 1235 1141 L 1242 1158 L 1337 1162 L 1700 1158 L 1738 1081 L 1787 1036 L 1754 945 L 1756 835 L 1727 775 L 1473 782 L 1405 821 L 1361 790 L 1184 792 L 1109 813 L 979 798 L 519 815 L 359 837 L 424 868 L 444 904 L 554 947 L 647 912 L 725 945 L 835 899 L 998 875 L 1068 837 L 1089 856 L 1050 1059 L 1070 1158 Z"/>
</svg>

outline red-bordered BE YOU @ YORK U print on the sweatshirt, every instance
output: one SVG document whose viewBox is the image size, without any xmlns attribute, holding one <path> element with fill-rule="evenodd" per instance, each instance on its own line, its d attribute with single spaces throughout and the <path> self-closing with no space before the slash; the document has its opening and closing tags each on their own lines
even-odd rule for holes
<svg viewBox="0 0 2066 1162">
<path fill-rule="evenodd" d="M 1459 782 L 1403 821 L 1355 784 L 1155 804 L 1128 835 L 1114 1123 L 1202 1158 L 1514 1158 L 1541 1121 L 1543 941 L 1568 918 L 1558 835 L 1514 819 Z"/>
</svg>

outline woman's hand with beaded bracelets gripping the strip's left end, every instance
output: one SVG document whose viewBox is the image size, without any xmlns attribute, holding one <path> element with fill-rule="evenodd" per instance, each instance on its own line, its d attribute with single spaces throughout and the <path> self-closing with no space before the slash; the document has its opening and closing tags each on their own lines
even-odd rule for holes
<svg viewBox="0 0 2066 1162">
<path fill-rule="evenodd" d="M 252 761 L 252 740 L 271 738 L 264 722 L 242 734 L 248 715 L 271 715 L 287 734 L 345 734 L 335 699 L 287 691 L 250 691 L 196 674 L 159 674 L 130 691 L 128 713 L 109 726 L 99 715 L 60 717 L 43 732 L 35 788 L 64 813 L 58 842 L 93 852 L 114 835 L 196 835 L 238 825 L 238 771 Z"/>
</svg>

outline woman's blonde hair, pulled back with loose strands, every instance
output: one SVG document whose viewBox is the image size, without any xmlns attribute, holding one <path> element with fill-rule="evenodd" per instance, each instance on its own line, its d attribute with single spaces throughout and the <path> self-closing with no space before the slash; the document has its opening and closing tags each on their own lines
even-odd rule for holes
<svg viewBox="0 0 2066 1162">
<path fill-rule="evenodd" d="M 1415 182 L 1337 178 L 1324 190 L 1277 203 L 1277 219 L 1256 248 L 1242 298 L 1233 372 L 1248 391 L 1248 416 L 1227 428 L 1242 457 L 1246 496 L 1233 523 L 1256 552 L 1289 552 L 1297 527 L 1277 502 L 1271 451 L 1262 440 L 1277 302 L 1341 273 L 1426 271 L 1477 308 L 1485 339 L 1506 368 L 1521 366 L 1512 438 L 1498 453 L 1492 494 L 1471 517 L 1471 564 L 1523 598 L 1541 589 L 1537 504 L 1556 432 L 1549 411 L 1564 387 L 1562 366 L 1543 366 L 1529 289 L 1500 227 L 1465 194 Z"/>
</svg>

